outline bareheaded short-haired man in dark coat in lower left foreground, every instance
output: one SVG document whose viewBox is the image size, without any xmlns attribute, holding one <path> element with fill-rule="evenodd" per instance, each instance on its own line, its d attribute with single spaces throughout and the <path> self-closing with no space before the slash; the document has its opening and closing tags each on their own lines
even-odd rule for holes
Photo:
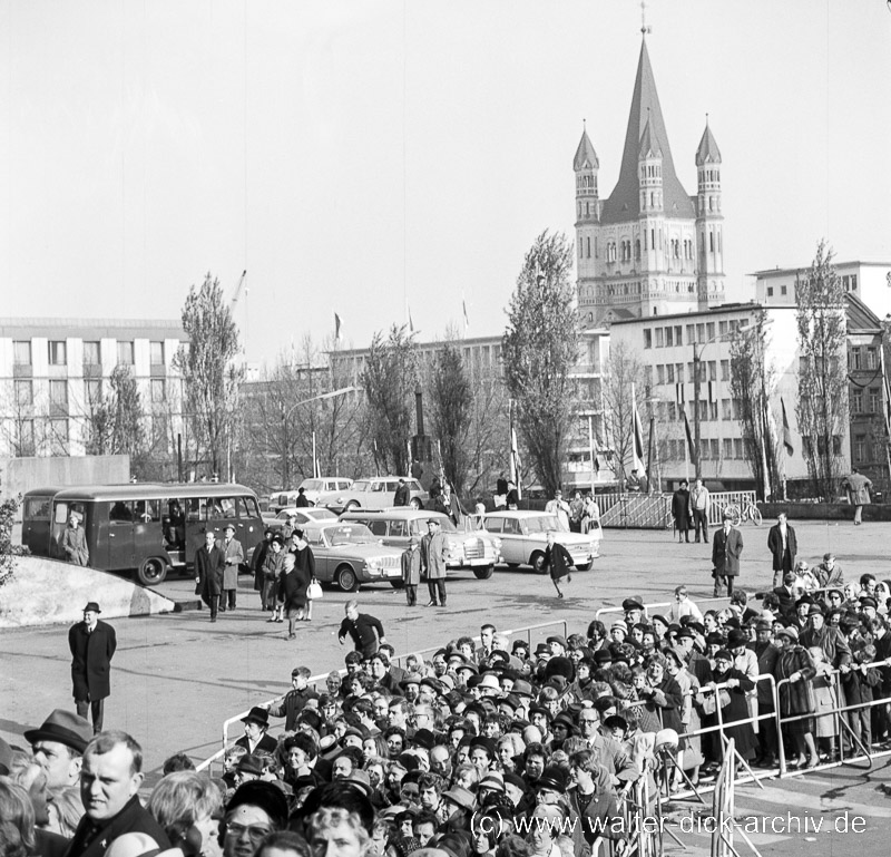
<svg viewBox="0 0 891 857">
<path fill-rule="evenodd" d="M 65 857 L 102 857 L 124 834 L 146 834 L 164 850 L 170 840 L 139 802 L 143 748 L 126 732 L 97 736 L 84 751 L 80 799 L 85 815 Z"/>
</svg>

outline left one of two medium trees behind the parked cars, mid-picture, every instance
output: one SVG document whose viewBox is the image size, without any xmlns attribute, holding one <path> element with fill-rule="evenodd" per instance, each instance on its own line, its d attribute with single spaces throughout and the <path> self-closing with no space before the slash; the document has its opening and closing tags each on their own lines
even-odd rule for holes
<svg viewBox="0 0 891 857">
<path fill-rule="evenodd" d="M 368 403 L 368 428 L 375 464 L 394 474 L 408 474 L 411 415 L 418 366 L 414 334 L 393 325 L 384 338 L 371 341 L 362 386 Z"/>
</svg>

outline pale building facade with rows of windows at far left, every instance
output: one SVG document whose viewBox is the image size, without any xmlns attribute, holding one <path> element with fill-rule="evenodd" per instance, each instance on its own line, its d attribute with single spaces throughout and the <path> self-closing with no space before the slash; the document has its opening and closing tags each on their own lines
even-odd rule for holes
<svg viewBox="0 0 891 857">
<path fill-rule="evenodd" d="M 146 435 L 166 446 L 182 419 L 177 321 L 0 319 L 0 455 L 85 455 L 117 367 L 136 379 Z"/>
</svg>

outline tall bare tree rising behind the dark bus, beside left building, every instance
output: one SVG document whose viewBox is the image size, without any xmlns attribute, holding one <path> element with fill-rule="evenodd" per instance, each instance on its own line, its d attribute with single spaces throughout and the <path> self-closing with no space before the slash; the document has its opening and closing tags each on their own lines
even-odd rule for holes
<svg viewBox="0 0 891 857">
<path fill-rule="evenodd" d="M 189 289 L 183 306 L 183 329 L 188 348 L 180 347 L 174 364 L 185 382 L 186 408 L 194 426 L 198 459 L 214 474 L 229 461 L 238 420 L 238 386 L 243 369 L 236 366 L 238 329 L 224 300 L 219 281 L 209 273 L 199 289 Z M 226 474 L 226 478 L 229 474 Z"/>
</svg>

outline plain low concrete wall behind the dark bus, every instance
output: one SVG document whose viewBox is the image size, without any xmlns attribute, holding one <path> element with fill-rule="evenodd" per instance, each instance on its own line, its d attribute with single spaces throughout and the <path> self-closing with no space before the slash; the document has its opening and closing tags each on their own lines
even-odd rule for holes
<svg viewBox="0 0 891 857">
<path fill-rule="evenodd" d="M 129 456 L 0 458 L 2 497 L 52 485 L 119 485 L 129 480 Z"/>
</svg>

